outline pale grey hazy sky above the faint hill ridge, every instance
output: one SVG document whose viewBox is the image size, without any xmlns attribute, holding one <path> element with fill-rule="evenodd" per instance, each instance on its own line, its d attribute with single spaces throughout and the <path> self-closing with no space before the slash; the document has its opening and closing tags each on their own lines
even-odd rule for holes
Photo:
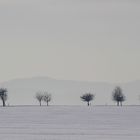
<svg viewBox="0 0 140 140">
<path fill-rule="evenodd" d="M 139 0 L 0 0 L 0 82 L 140 79 Z"/>
</svg>

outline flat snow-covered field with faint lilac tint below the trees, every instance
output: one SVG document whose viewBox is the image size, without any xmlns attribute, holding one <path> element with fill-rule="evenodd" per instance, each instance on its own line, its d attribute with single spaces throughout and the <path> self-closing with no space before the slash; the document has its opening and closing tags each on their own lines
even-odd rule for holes
<svg viewBox="0 0 140 140">
<path fill-rule="evenodd" d="M 140 140 L 140 107 L 1 107 L 0 140 Z"/>
</svg>

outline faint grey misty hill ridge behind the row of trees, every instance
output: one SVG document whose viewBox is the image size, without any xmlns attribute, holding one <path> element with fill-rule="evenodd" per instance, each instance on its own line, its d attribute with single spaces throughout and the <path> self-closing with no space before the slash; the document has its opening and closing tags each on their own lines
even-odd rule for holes
<svg viewBox="0 0 140 140">
<path fill-rule="evenodd" d="M 84 82 L 70 80 L 56 80 L 49 77 L 33 77 L 15 79 L 1 83 L 1 87 L 8 89 L 10 105 L 37 105 L 35 93 L 48 91 L 52 93 L 53 105 L 83 105 L 80 96 L 85 92 L 96 95 L 93 105 L 114 105 L 111 100 L 112 90 L 121 86 L 127 101 L 125 104 L 139 104 L 140 81 L 123 84 L 110 84 L 104 82 Z"/>
</svg>

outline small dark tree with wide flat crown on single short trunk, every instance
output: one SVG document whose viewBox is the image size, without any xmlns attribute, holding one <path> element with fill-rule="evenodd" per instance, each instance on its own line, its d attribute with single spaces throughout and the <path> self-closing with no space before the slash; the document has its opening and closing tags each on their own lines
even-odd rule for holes
<svg viewBox="0 0 140 140">
<path fill-rule="evenodd" d="M 91 93 L 85 93 L 80 98 L 82 99 L 82 101 L 87 102 L 87 105 L 89 106 L 90 101 L 92 101 L 94 99 L 94 97 L 95 96 Z"/>
</svg>

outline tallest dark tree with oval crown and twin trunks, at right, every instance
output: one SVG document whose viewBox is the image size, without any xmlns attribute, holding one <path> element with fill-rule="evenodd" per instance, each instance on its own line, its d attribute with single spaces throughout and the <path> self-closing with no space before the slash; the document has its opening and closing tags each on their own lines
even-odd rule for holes
<svg viewBox="0 0 140 140">
<path fill-rule="evenodd" d="M 117 106 L 121 105 L 122 106 L 122 102 L 125 101 L 125 96 L 122 92 L 121 87 L 116 87 L 112 93 L 112 98 L 114 101 L 117 102 Z"/>
</svg>

